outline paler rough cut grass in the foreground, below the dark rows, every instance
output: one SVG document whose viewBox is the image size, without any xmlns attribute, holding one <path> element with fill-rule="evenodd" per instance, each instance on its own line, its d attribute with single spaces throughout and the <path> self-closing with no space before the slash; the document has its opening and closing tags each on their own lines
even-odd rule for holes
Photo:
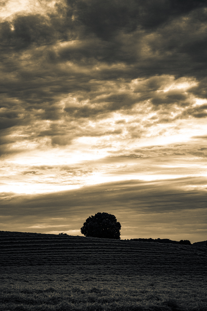
<svg viewBox="0 0 207 311">
<path fill-rule="evenodd" d="M 133 271 L 132 271 L 133 274 Z M 0 310 L 206 311 L 203 276 L 13 273 L 0 276 Z"/>
</svg>

